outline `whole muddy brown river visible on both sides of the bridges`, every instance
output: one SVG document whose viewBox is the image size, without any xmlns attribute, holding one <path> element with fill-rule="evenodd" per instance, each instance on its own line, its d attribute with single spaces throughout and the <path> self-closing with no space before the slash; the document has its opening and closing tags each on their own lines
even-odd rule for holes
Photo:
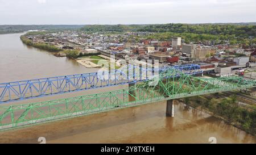
<svg viewBox="0 0 256 155">
<path fill-rule="evenodd" d="M 0 35 L 0 82 L 96 72 L 75 60 L 55 57 L 52 53 L 27 47 L 20 41 L 22 33 Z M 23 104 L 49 99 L 93 94 L 120 89 L 122 86 L 53 95 L 8 104 Z M 166 102 L 124 108 L 31 127 L 0 132 L 0 143 L 256 143 L 240 129 L 197 110 L 175 104 L 175 118 L 165 115 Z"/>
</svg>

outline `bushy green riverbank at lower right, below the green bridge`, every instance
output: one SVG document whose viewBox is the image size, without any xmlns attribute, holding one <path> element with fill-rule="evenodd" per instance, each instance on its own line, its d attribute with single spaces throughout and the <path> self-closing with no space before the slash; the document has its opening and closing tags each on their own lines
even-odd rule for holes
<svg viewBox="0 0 256 155">
<path fill-rule="evenodd" d="M 218 96 L 221 96 L 221 93 L 218 93 Z M 224 98 L 218 99 L 210 97 L 210 95 L 202 95 L 182 100 L 188 106 L 207 112 L 251 135 L 256 133 L 255 105 L 252 108 L 242 107 L 235 95 L 226 96 L 224 94 Z"/>
</svg>

